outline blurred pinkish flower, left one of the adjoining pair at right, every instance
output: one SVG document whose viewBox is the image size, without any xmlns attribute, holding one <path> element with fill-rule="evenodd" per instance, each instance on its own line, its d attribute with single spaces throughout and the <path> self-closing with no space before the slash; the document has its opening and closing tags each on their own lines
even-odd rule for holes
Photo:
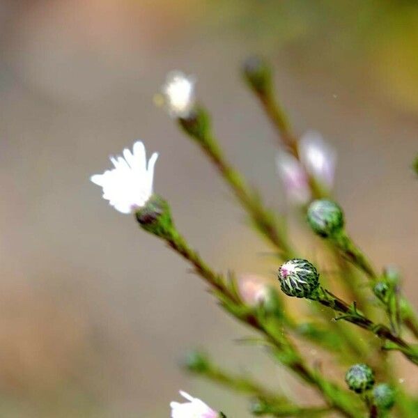
<svg viewBox="0 0 418 418">
<path fill-rule="evenodd" d="M 276 163 L 288 199 L 292 203 L 307 203 L 311 198 L 311 191 L 307 173 L 300 162 L 290 153 L 281 151 L 277 154 Z"/>
</svg>

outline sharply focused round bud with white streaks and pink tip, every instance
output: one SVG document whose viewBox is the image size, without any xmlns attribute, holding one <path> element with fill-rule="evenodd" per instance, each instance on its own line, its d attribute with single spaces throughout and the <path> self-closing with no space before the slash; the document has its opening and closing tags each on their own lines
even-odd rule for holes
<svg viewBox="0 0 418 418">
<path fill-rule="evenodd" d="M 309 261 L 295 258 L 279 268 L 281 290 L 288 296 L 309 297 L 319 287 L 319 274 Z"/>
</svg>

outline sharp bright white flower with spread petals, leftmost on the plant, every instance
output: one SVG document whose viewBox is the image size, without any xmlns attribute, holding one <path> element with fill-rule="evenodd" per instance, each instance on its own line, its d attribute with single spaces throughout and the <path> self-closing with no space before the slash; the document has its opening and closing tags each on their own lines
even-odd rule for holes
<svg viewBox="0 0 418 418">
<path fill-rule="evenodd" d="M 133 153 L 125 148 L 123 157 L 111 157 L 114 169 L 95 174 L 90 180 L 103 188 L 103 199 L 122 213 L 142 208 L 153 194 L 154 166 L 158 154 L 146 163 L 144 144 L 135 142 Z"/>
</svg>

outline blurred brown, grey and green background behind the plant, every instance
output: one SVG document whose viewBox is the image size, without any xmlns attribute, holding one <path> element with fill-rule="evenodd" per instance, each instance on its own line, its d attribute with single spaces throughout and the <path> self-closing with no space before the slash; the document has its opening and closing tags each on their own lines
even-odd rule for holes
<svg viewBox="0 0 418 418">
<path fill-rule="evenodd" d="M 178 389 L 249 417 L 244 399 L 180 371 L 195 346 L 297 390 L 88 180 L 142 139 L 160 152 L 155 189 L 201 254 L 273 277 L 215 171 L 153 104 L 167 72 L 196 75 L 226 154 L 285 211 L 276 137 L 239 75 L 254 52 L 274 63 L 295 131 L 338 151 L 352 235 L 377 265 L 401 266 L 418 306 L 417 1 L 0 0 L 2 417 L 168 417 Z"/>
</svg>

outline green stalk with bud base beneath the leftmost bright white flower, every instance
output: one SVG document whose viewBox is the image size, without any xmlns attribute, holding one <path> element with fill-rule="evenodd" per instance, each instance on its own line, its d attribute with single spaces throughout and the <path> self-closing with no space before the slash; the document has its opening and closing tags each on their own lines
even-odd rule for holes
<svg viewBox="0 0 418 418">
<path fill-rule="evenodd" d="M 217 274 L 202 260 L 202 258 L 187 245 L 186 240 L 178 233 L 169 211 L 169 205 L 164 199 L 152 199 L 151 208 L 157 208 L 155 216 L 150 216 L 150 210 L 140 209 L 135 216 L 140 226 L 149 233 L 162 238 L 171 249 L 183 256 L 199 274 L 212 287 L 212 293 L 217 297 L 224 309 L 235 318 L 261 332 L 272 348 L 274 357 L 293 371 L 304 382 L 316 388 L 330 407 L 341 412 L 345 417 L 357 417 L 353 412 L 353 399 L 345 394 L 341 388 L 328 381 L 318 371 L 312 371 L 304 362 L 302 355 L 294 344 L 288 339 L 281 324 L 276 318 L 269 318 L 254 309 L 248 309 L 243 304 L 235 281 L 227 280 L 222 274 Z M 160 224 L 161 220 L 161 224 Z M 149 221 L 149 224 L 148 224 Z"/>
</svg>

